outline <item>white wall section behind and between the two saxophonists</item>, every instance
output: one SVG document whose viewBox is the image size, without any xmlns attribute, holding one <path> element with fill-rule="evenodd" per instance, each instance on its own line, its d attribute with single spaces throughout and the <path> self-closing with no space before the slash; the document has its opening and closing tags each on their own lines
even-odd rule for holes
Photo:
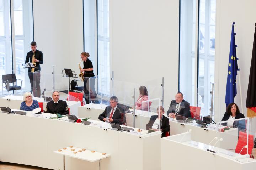
<svg viewBox="0 0 256 170">
<path fill-rule="evenodd" d="M 79 72 L 79 57 L 83 51 L 82 22 L 82 0 L 34 0 L 34 40 L 44 57 L 41 89 L 51 90 L 54 65 L 55 74 L 58 74 L 55 75 L 55 90 L 68 90 L 68 78 L 62 78 L 61 71 L 71 68 Z"/>
</svg>

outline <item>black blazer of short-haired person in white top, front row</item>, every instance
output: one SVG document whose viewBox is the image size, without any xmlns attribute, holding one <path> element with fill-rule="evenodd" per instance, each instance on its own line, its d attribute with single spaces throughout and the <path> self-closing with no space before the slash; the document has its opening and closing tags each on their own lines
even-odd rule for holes
<svg viewBox="0 0 256 170">
<path fill-rule="evenodd" d="M 158 115 L 154 115 L 154 116 L 150 117 L 149 123 L 146 124 L 146 130 L 149 130 L 149 128 L 152 128 L 157 117 L 158 117 Z M 160 123 L 158 125 L 158 129 L 159 129 L 159 126 L 160 126 L 160 129 L 162 129 L 162 137 L 165 137 L 165 132 L 170 131 L 169 119 L 163 115 L 162 119 L 160 120 Z"/>
</svg>

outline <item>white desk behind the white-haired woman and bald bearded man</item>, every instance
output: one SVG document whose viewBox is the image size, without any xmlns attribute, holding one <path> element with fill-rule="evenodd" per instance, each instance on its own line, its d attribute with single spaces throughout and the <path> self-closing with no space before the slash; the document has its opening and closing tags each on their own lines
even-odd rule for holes
<svg viewBox="0 0 256 170">
<path fill-rule="evenodd" d="M 46 109 L 46 103 L 43 98 L 33 97 L 38 102 L 43 102 L 43 109 Z M 66 100 L 64 100 L 66 101 Z M 11 109 L 20 109 L 20 104 L 23 102 L 23 96 L 8 95 L 0 98 L 0 105 L 2 107 L 10 107 Z M 81 102 L 66 101 L 70 108 L 70 114 L 78 116 L 78 106 L 81 106 Z"/>
</svg>

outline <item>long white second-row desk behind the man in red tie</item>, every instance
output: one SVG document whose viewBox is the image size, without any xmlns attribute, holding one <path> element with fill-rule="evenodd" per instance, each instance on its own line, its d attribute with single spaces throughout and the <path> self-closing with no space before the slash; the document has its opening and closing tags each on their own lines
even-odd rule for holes
<svg viewBox="0 0 256 170">
<path fill-rule="evenodd" d="M 98 120 L 98 116 L 105 110 L 107 105 L 101 104 L 86 104 L 85 106 L 78 107 L 78 116 L 89 118 L 92 120 Z M 133 109 L 130 109 L 133 111 Z M 146 124 L 149 122 L 151 115 L 157 115 L 154 112 L 146 112 L 141 110 L 135 110 L 135 128 L 145 129 Z M 133 126 L 133 113 L 126 113 L 127 126 Z M 218 132 L 216 129 L 201 128 L 194 121 L 193 124 L 182 123 L 176 121 L 176 119 L 170 121 L 170 135 L 181 134 L 191 129 L 197 136 L 198 140 L 203 143 L 209 143 L 214 137 L 223 138 L 222 143 L 218 143 L 217 147 L 225 149 L 235 148 L 234 144 L 230 145 L 230 141 L 237 140 L 238 131 L 237 129 L 230 129 L 224 133 Z M 193 138 L 194 136 L 192 136 Z"/>
</svg>

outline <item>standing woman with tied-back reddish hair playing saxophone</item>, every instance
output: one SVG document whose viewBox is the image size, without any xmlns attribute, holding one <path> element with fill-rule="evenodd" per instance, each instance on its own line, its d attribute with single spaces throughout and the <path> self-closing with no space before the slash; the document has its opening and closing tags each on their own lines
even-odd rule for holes
<svg viewBox="0 0 256 170">
<path fill-rule="evenodd" d="M 93 73 L 92 62 L 88 58 L 89 56 L 90 55 L 87 52 L 81 53 L 81 60 L 83 61 L 84 68 L 80 69 L 80 73 L 84 72 L 84 93 L 85 93 L 86 104 L 90 103 L 90 101 L 92 101 L 92 103 L 98 103 L 97 93 L 96 93 L 95 87 L 94 87 L 94 85 L 95 85 L 95 77 L 94 76 L 95 75 Z M 89 80 L 90 77 L 94 77 L 94 78 L 91 78 Z"/>
</svg>

